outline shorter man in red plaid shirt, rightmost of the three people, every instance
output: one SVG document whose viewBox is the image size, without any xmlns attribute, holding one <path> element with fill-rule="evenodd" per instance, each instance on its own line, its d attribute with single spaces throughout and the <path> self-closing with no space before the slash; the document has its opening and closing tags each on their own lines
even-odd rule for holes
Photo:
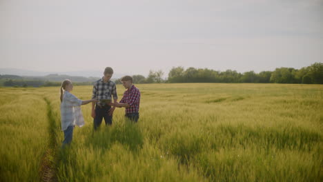
<svg viewBox="0 0 323 182">
<path fill-rule="evenodd" d="M 140 91 L 133 85 L 133 77 L 122 77 L 121 82 L 124 88 L 128 90 L 124 92 L 124 97 L 119 103 L 110 103 L 110 105 L 126 108 L 126 118 L 137 122 L 139 119 Z"/>
</svg>

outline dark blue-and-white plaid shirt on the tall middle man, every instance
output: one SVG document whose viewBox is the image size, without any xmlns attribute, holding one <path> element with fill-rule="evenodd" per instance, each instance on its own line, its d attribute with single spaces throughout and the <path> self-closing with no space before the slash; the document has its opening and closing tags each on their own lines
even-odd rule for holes
<svg viewBox="0 0 323 182">
<path fill-rule="evenodd" d="M 115 82 L 108 81 L 107 83 L 104 83 L 103 78 L 95 81 L 93 84 L 92 99 L 111 99 L 111 95 L 113 96 L 113 99 L 118 99 Z M 104 106 L 104 104 L 100 102 L 97 102 L 97 105 Z"/>
</svg>

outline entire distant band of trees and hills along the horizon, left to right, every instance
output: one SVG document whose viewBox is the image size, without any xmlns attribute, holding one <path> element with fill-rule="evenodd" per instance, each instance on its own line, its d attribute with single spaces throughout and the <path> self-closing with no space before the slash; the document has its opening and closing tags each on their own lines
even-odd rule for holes
<svg viewBox="0 0 323 182">
<path fill-rule="evenodd" d="M 304 83 L 323 84 L 323 63 L 313 63 L 300 70 L 294 68 L 276 68 L 274 71 L 256 73 L 254 71 L 239 73 L 235 70 L 224 72 L 207 68 L 173 67 L 164 78 L 162 70 L 150 70 L 148 77 L 133 75 L 134 83 Z M 46 79 L 50 79 L 46 80 Z M 70 77 L 68 75 L 50 74 L 46 77 L 19 77 L 17 75 L 0 75 L 0 85 L 8 87 L 59 86 L 63 79 L 71 79 L 75 85 L 92 85 L 99 78 Z M 115 83 L 120 84 L 119 79 Z"/>
</svg>

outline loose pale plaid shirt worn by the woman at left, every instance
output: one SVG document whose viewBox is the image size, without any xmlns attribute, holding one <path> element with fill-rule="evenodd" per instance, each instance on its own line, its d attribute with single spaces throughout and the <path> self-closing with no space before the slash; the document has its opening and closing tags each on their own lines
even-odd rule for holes
<svg viewBox="0 0 323 182">
<path fill-rule="evenodd" d="M 70 125 L 84 125 L 84 118 L 81 112 L 82 101 L 68 91 L 63 94 L 61 102 L 61 130 L 66 130 Z"/>
</svg>

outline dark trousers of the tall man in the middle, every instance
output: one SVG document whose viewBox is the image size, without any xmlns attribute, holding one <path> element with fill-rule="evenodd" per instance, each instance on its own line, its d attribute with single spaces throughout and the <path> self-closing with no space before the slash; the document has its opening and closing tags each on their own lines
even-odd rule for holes
<svg viewBox="0 0 323 182">
<path fill-rule="evenodd" d="M 93 121 L 95 130 L 97 130 L 97 128 L 101 125 L 103 118 L 106 122 L 106 125 L 112 125 L 112 116 L 109 116 L 108 114 L 110 108 L 110 105 L 106 105 L 104 107 L 95 105 L 95 119 Z"/>
</svg>

